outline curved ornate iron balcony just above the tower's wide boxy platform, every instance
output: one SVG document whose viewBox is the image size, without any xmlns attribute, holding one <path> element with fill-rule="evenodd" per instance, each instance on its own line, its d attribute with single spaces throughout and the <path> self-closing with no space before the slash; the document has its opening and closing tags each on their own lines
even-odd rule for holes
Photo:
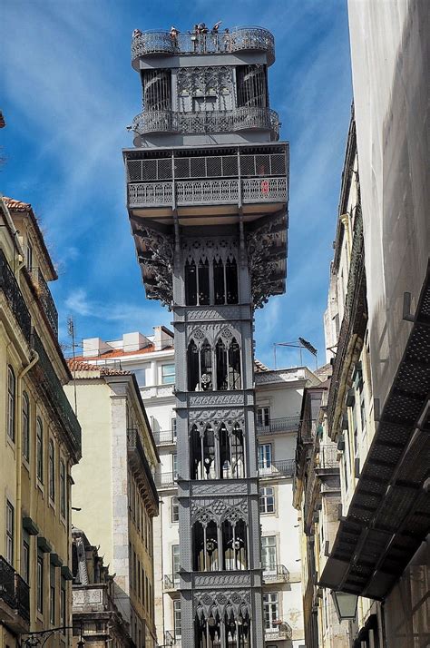
<svg viewBox="0 0 430 648">
<path fill-rule="evenodd" d="M 177 113 L 171 110 L 139 113 L 132 121 L 132 131 L 148 133 L 240 133 L 270 131 L 272 142 L 279 140 L 279 115 L 269 108 L 239 107 L 233 111 Z"/>
</svg>

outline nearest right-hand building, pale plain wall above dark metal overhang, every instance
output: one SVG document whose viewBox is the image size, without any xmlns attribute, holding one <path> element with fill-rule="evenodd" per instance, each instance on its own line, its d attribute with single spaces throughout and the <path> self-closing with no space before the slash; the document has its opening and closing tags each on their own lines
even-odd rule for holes
<svg viewBox="0 0 430 648">
<path fill-rule="evenodd" d="M 409 648 L 430 627 L 429 14 L 420 0 L 348 11 L 363 233 L 337 299 L 327 431 L 342 512 L 319 582 L 360 597 L 354 645 Z"/>
</svg>

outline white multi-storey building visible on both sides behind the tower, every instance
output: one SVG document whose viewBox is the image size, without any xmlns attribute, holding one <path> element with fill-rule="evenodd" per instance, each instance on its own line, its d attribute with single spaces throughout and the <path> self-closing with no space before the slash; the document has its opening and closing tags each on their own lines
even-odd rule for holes
<svg viewBox="0 0 430 648">
<path fill-rule="evenodd" d="M 82 359 L 136 374 L 161 460 L 156 475 L 160 515 L 153 520 L 155 624 L 161 645 L 181 646 L 173 335 L 154 327 L 152 336 L 129 333 L 110 342 L 84 339 Z M 299 648 L 305 642 L 292 481 L 303 389 L 319 380 L 308 368 L 270 371 L 260 363 L 255 380 L 266 645 Z"/>
</svg>

